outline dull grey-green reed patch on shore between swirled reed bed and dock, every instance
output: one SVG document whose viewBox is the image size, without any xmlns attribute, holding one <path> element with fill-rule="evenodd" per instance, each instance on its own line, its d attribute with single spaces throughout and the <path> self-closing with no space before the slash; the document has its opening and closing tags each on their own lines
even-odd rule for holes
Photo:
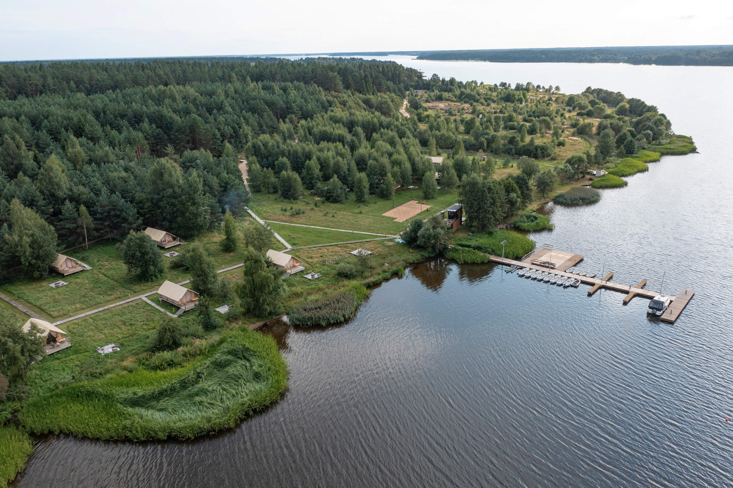
<svg viewBox="0 0 733 488">
<path fill-rule="evenodd" d="M 356 314 L 361 300 L 369 295 L 361 284 L 353 284 L 349 289 L 306 300 L 290 309 L 287 314 L 292 325 L 328 325 L 344 322 Z"/>
</svg>

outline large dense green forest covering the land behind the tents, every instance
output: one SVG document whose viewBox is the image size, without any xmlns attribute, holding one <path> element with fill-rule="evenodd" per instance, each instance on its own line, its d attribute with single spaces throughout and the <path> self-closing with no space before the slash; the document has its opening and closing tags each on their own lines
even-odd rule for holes
<svg viewBox="0 0 733 488">
<path fill-rule="evenodd" d="M 405 119 L 398 111 L 413 90 L 424 92 L 408 96 L 414 117 Z M 586 155 L 589 164 L 603 164 L 628 138 L 636 150 L 670 133 L 666 117 L 641 100 L 557 92 L 424 78 L 394 62 L 354 59 L 3 64 L 0 259 L 4 269 L 20 262 L 43 276 L 46 267 L 31 263 L 92 237 L 141 226 L 194 237 L 247 204 L 241 154 L 255 191 L 279 188 L 292 199 L 301 182 L 315 190 L 335 177 L 353 191 L 365 177 L 368 192 L 383 196 L 391 193 L 383 187 L 432 174 L 424 153 L 436 147 L 455 155 L 441 170 L 454 169 L 460 182 L 491 174 L 463 150 L 556 158 L 567 125 L 613 139 L 600 157 Z M 427 108 L 435 100 L 459 103 L 460 113 Z M 524 188 L 507 183 L 507 191 L 526 204 L 528 182 L 515 183 Z"/>
</svg>

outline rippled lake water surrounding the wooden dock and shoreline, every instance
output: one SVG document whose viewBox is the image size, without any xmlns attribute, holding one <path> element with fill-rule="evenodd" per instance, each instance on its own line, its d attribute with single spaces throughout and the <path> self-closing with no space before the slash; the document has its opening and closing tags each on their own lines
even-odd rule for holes
<svg viewBox="0 0 733 488">
<path fill-rule="evenodd" d="M 619 90 L 700 154 L 666 157 L 588 207 L 551 205 L 538 244 L 614 281 L 697 293 L 674 325 L 648 300 L 435 259 L 354 319 L 278 322 L 280 402 L 189 443 L 40 439 L 18 487 L 730 487 L 730 67 L 398 59 L 427 75 Z"/>
</svg>

